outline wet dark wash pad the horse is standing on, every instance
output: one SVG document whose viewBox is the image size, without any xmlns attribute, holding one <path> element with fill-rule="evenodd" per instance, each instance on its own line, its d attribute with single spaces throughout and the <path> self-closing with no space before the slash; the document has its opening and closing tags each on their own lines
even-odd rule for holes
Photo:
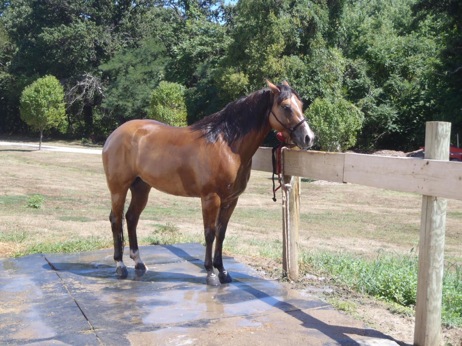
<svg viewBox="0 0 462 346">
<path fill-rule="evenodd" d="M 149 270 L 128 267 L 126 279 L 112 250 L 1 260 L 0 345 L 397 345 L 230 257 L 234 281 L 207 286 L 204 253 L 141 246 Z"/>
</svg>

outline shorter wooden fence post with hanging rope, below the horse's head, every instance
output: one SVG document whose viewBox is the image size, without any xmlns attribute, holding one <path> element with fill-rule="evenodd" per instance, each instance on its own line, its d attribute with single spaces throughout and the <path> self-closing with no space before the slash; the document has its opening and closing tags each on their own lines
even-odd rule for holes
<svg viewBox="0 0 462 346">
<path fill-rule="evenodd" d="M 284 149 L 282 150 L 284 173 Z M 282 174 L 282 269 L 289 280 L 298 280 L 298 224 L 300 177 Z"/>
</svg>

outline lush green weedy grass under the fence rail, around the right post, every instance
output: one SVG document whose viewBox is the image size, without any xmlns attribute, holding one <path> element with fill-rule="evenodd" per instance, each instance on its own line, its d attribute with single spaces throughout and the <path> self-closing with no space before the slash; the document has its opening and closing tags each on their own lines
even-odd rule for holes
<svg viewBox="0 0 462 346">
<path fill-rule="evenodd" d="M 415 305 L 418 257 L 415 254 L 377 257 L 367 261 L 343 253 L 302 252 L 304 271 L 328 274 L 335 283 L 352 291 L 400 304 Z M 462 326 L 462 267 L 449 263 L 443 276 L 442 324 Z"/>
</svg>

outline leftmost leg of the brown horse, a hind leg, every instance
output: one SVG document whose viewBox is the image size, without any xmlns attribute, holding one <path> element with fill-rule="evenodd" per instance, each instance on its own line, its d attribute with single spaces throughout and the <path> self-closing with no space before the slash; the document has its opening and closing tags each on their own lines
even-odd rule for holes
<svg viewBox="0 0 462 346">
<path fill-rule="evenodd" d="M 111 190 L 111 203 L 112 209 L 109 215 L 111 221 L 112 236 L 114 238 L 114 261 L 116 261 L 116 273 L 122 277 L 127 277 L 128 271 L 123 264 L 123 207 L 125 205 L 125 198 L 127 197 L 128 186 L 126 188 L 117 188 Z"/>
</svg>

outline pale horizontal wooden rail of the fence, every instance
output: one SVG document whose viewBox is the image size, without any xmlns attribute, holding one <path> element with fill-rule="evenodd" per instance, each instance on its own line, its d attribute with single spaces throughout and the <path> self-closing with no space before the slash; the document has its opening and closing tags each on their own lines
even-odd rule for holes
<svg viewBox="0 0 462 346">
<path fill-rule="evenodd" d="M 282 157 L 286 175 L 462 200 L 460 162 L 295 149 Z M 273 171 L 271 148 L 257 150 L 252 169 Z"/>
</svg>

